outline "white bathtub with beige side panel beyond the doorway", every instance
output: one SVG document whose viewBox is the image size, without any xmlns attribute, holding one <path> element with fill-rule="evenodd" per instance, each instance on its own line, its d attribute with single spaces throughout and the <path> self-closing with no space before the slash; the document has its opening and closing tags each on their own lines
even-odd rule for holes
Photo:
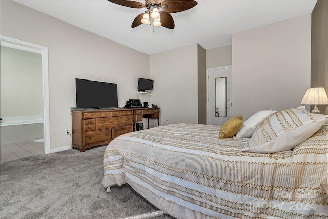
<svg viewBox="0 0 328 219">
<path fill-rule="evenodd" d="M 0 122 L 0 144 L 43 138 L 43 127 L 43 115 L 2 117 Z"/>
</svg>

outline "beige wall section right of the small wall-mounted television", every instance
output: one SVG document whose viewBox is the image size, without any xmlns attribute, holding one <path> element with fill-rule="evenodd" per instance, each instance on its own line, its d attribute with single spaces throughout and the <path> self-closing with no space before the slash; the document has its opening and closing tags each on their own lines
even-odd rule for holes
<svg viewBox="0 0 328 219">
<path fill-rule="evenodd" d="M 151 102 L 161 107 L 161 124 L 198 123 L 198 45 L 150 55 Z"/>
</svg>

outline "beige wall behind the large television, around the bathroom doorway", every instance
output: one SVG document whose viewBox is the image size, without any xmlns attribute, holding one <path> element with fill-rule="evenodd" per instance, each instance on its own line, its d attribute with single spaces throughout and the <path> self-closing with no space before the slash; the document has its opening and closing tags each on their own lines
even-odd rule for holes
<svg viewBox="0 0 328 219">
<path fill-rule="evenodd" d="M 137 98 L 149 56 L 13 1 L 0 1 L 0 34 L 48 47 L 50 149 L 70 146 L 75 77 L 118 84 L 118 103 Z"/>
</svg>

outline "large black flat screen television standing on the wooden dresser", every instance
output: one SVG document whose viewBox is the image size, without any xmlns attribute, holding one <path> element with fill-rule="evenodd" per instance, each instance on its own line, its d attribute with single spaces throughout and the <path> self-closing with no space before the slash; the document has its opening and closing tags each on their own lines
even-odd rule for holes
<svg viewBox="0 0 328 219">
<path fill-rule="evenodd" d="M 118 107 L 117 84 L 75 78 L 76 108 Z"/>
</svg>

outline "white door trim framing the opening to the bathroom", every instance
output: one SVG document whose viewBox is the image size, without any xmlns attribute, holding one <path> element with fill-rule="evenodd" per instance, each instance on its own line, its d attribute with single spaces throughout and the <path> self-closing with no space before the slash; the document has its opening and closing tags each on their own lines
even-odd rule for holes
<svg viewBox="0 0 328 219">
<path fill-rule="evenodd" d="M 48 71 L 48 47 L 41 46 L 20 39 L 0 35 L 1 45 L 15 49 L 41 54 L 42 57 L 42 77 L 43 77 L 43 106 L 44 106 L 44 140 L 45 154 L 50 152 L 50 109 L 49 109 L 49 71 Z"/>
</svg>

